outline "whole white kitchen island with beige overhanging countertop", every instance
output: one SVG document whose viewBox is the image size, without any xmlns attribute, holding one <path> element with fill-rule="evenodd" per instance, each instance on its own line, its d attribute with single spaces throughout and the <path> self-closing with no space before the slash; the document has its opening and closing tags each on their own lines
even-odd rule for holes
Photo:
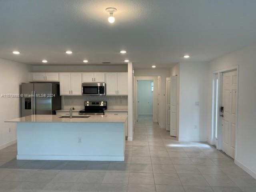
<svg viewBox="0 0 256 192">
<path fill-rule="evenodd" d="M 30 115 L 17 124 L 19 160 L 124 161 L 127 116 Z"/>
</svg>

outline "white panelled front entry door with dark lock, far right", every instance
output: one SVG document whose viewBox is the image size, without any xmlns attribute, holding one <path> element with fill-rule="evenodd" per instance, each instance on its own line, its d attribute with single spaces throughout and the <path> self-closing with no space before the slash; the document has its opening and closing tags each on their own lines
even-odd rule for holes
<svg viewBox="0 0 256 192">
<path fill-rule="evenodd" d="M 223 74 L 222 78 L 222 150 L 230 157 L 235 154 L 235 131 L 236 131 L 236 71 Z"/>
</svg>

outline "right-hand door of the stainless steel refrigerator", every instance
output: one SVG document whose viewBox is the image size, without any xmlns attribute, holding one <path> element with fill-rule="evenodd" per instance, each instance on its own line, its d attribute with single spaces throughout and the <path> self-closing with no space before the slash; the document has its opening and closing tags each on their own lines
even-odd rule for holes
<svg viewBox="0 0 256 192">
<path fill-rule="evenodd" d="M 52 98 L 47 95 L 52 94 L 51 83 L 34 83 L 34 105 L 36 115 L 52 114 Z M 45 94 L 45 96 L 44 96 Z"/>
</svg>

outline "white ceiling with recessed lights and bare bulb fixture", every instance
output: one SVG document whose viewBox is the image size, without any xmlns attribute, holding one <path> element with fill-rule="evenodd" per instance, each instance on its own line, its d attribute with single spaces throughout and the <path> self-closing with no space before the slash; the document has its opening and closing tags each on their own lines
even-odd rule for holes
<svg viewBox="0 0 256 192">
<path fill-rule="evenodd" d="M 114 24 L 107 7 L 118 9 Z M 255 0 L 0 0 L 0 58 L 46 65 L 129 59 L 135 68 L 168 67 L 184 54 L 209 61 L 256 42 L 255 9 Z"/>
</svg>

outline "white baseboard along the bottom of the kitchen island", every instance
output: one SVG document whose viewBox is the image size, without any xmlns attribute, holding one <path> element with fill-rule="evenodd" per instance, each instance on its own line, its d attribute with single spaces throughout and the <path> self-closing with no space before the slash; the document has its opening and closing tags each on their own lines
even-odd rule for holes
<svg viewBox="0 0 256 192">
<path fill-rule="evenodd" d="M 17 155 L 18 160 L 124 161 L 124 156 Z"/>
</svg>

